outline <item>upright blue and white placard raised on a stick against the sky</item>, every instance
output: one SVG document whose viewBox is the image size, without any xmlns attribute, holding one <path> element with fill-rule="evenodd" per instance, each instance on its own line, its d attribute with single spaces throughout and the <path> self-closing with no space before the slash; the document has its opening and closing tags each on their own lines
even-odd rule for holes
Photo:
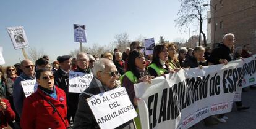
<svg viewBox="0 0 256 129">
<path fill-rule="evenodd" d="M 87 42 L 85 25 L 74 24 L 75 42 Z"/>
</svg>

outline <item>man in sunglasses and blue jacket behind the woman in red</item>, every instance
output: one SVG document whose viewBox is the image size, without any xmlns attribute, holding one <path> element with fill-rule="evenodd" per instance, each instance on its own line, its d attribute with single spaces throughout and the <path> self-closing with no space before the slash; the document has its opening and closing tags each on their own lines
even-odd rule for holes
<svg viewBox="0 0 256 129">
<path fill-rule="evenodd" d="M 21 82 L 25 80 L 34 80 L 35 79 L 35 69 L 34 64 L 31 60 L 25 59 L 21 62 L 20 68 L 23 73 L 14 82 L 14 107 L 17 111 L 19 117 L 22 114 L 23 101 L 25 99 L 25 94 L 22 89 Z"/>
</svg>

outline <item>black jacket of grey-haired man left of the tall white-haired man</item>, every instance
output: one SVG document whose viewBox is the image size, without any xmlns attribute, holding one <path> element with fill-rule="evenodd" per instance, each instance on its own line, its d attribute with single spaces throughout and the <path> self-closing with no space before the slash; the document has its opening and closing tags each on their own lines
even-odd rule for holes
<svg viewBox="0 0 256 129">
<path fill-rule="evenodd" d="M 205 60 L 204 62 L 198 62 L 197 59 L 194 56 L 188 55 L 186 60 L 183 63 L 184 68 L 195 68 L 198 66 L 207 66 L 207 61 Z"/>
</svg>

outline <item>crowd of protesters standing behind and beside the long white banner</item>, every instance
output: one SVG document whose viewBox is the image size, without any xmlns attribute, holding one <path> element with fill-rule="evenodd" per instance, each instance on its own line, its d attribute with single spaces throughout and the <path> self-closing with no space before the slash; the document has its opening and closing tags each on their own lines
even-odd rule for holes
<svg viewBox="0 0 256 129">
<path fill-rule="evenodd" d="M 141 52 L 139 41 L 134 41 L 124 52 L 97 55 L 78 53 L 76 57 L 60 55 L 53 63 L 44 56 L 35 64 L 28 59 L 0 68 L 0 128 L 100 128 L 87 98 L 113 88 L 125 87 L 130 101 L 137 108 L 134 84 L 151 82 L 158 76 L 173 74 L 183 68 L 203 68 L 224 64 L 252 56 L 250 45 L 234 48 L 234 35 L 229 33 L 215 49 L 197 46 L 177 48 L 173 43 L 158 44 L 152 55 Z M 90 86 L 82 93 L 69 93 L 69 71 L 93 74 Z M 35 93 L 25 97 L 20 82 L 36 80 Z M 255 88 L 255 87 L 250 87 Z M 246 90 L 243 90 L 246 92 Z M 237 111 L 249 109 L 242 101 L 236 102 Z M 226 123 L 225 114 L 203 120 L 206 126 Z M 117 128 L 140 128 L 139 117 Z"/>
</svg>

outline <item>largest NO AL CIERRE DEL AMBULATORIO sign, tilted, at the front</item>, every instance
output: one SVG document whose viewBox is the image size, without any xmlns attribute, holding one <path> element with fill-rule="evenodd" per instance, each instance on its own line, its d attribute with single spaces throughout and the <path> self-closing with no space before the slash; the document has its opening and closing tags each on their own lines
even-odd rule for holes
<svg viewBox="0 0 256 129">
<path fill-rule="evenodd" d="M 137 117 L 126 88 L 114 88 L 87 99 L 100 128 L 116 128 Z"/>
</svg>

